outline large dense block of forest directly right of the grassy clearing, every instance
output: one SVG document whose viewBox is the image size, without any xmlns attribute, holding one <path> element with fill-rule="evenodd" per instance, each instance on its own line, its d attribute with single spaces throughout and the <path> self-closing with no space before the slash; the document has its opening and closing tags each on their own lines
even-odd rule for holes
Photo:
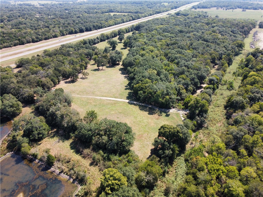
<svg viewBox="0 0 263 197">
<path fill-rule="evenodd" d="M 179 107 L 218 65 L 220 72 L 208 80 L 207 89 L 214 91 L 254 27 L 253 20 L 209 18 L 191 11 L 136 25 L 138 32 L 123 41 L 131 48 L 123 66 L 134 95 L 155 106 Z"/>
</svg>

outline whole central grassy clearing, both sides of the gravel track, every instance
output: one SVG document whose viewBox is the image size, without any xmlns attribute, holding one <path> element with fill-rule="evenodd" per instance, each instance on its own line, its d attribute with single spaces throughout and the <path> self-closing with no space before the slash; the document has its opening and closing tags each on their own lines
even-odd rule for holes
<svg viewBox="0 0 263 197">
<path fill-rule="evenodd" d="M 131 35 L 131 33 L 125 34 Z M 114 38 L 117 39 L 117 38 Z M 108 46 L 107 42 L 101 42 L 96 45 L 98 48 Z M 123 44 L 119 43 L 117 50 L 123 52 L 124 57 L 128 53 L 128 49 L 123 48 Z M 124 58 L 123 57 L 123 58 Z M 123 74 L 122 66 L 114 68 L 103 68 L 105 70 L 98 71 L 96 65 L 89 65 L 87 71 L 89 76 L 87 79 L 78 79 L 75 83 L 68 81 L 60 82 L 56 88 L 61 87 L 72 95 L 81 96 L 102 96 L 112 98 L 130 98 L 130 90 L 126 75 Z M 80 74 L 79 77 L 82 75 Z M 152 148 L 151 143 L 158 135 L 158 129 L 163 124 L 176 125 L 181 123 L 179 113 L 161 113 L 148 107 L 130 105 L 125 102 L 102 100 L 97 98 L 82 98 L 73 96 L 72 107 L 80 112 L 83 117 L 88 110 L 95 110 L 98 117 L 109 118 L 112 120 L 126 122 L 132 127 L 136 133 L 136 139 L 133 150 L 139 155 L 140 159 L 146 159 Z"/>
</svg>

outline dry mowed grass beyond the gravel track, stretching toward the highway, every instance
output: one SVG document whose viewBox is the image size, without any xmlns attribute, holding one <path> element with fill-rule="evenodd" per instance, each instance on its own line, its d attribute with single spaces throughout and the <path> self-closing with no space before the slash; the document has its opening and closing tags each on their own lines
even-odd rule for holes
<svg viewBox="0 0 263 197">
<path fill-rule="evenodd" d="M 125 34 L 131 35 L 130 33 Z M 118 38 L 118 37 L 117 37 Z M 117 38 L 114 38 L 117 40 Z M 104 48 L 109 46 L 107 42 L 101 42 L 97 45 L 98 48 Z M 117 50 L 122 51 L 124 54 L 123 59 L 128 54 L 128 49 L 123 48 L 123 43 L 119 43 Z M 101 68 L 101 67 L 100 67 Z M 93 61 L 87 68 L 89 76 L 86 79 L 81 79 L 82 74 L 79 74 L 77 82 L 68 83 L 69 81 L 62 81 L 56 88 L 63 88 L 65 91 L 69 91 L 72 95 L 88 95 L 88 96 L 103 96 L 112 98 L 127 99 L 130 92 L 128 87 L 127 76 L 123 73 L 122 66 L 116 67 L 103 67 L 103 70 L 98 70 L 97 65 Z"/>
</svg>

